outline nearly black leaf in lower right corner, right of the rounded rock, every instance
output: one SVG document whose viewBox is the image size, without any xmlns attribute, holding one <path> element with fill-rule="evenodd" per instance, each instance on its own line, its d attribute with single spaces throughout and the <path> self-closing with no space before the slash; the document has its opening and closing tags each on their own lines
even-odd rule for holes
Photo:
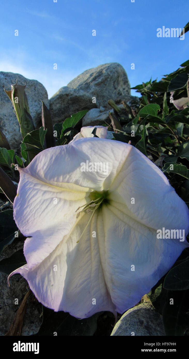
<svg viewBox="0 0 189 359">
<path fill-rule="evenodd" d="M 172 303 L 173 299 L 173 304 Z M 189 326 L 189 290 L 168 291 L 167 302 L 163 308 L 165 334 L 183 336 Z"/>
</svg>

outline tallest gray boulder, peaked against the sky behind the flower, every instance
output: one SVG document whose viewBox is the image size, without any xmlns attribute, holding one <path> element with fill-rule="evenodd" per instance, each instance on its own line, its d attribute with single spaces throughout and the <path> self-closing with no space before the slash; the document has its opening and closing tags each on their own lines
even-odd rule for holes
<svg viewBox="0 0 189 359">
<path fill-rule="evenodd" d="M 83 90 L 96 97 L 97 107 L 110 108 L 109 99 L 120 103 L 130 96 L 130 83 L 127 74 L 120 64 L 112 62 L 84 71 L 67 85 L 73 89 Z"/>
</svg>

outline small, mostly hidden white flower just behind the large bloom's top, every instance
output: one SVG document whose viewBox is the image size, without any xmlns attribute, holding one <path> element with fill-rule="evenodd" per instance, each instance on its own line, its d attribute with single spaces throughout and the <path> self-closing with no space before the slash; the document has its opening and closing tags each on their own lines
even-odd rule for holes
<svg viewBox="0 0 189 359">
<path fill-rule="evenodd" d="M 70 142 L 79 140 L 80 138 L 94 137 L 94 135 L 92 134 L 94 129 L 96 129 L 96 136 L 99 138 L 113 138 L 112 131 L 108 131 L 106 126 L 85 126 L 81 128 L 80 132 L 75 135 L 73 140 Z"/>
</svg>

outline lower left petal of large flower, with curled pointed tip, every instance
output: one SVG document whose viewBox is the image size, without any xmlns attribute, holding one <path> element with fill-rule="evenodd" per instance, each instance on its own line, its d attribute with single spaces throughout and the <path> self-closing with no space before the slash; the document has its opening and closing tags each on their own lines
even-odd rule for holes
<svg viewBox="0 0 189 359">
<path fill-rule="evenodd" d="M 101 236 L 92 237 L 96 217 L 94 213 L 79 243 L 77 239 L 90 219 L 89 214 L 80 215 L 69 235 L 40 264 L 31 269 L 23 266 L 9 278 L 22 274 L 36 298 L 55 311 L 69 312 L 79 318 L 100 311 L 115 312 L 101 265 Z"/>
</svg>

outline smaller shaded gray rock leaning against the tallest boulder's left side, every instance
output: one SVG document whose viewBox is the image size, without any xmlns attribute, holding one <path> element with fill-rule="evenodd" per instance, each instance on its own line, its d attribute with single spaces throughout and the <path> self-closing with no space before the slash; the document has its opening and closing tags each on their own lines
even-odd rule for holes
<svg viewBox="0 0 189 359">
<path fill-rule="evenodd" d="M 67 86 L 61 87 L 50 98 L 50 111 L 53 123 L 63 122 L 66 117 L 73 113 L 97 107 L 92 103 L 92 97 L 82 90 L 71 89 Z"/>
</svg>

